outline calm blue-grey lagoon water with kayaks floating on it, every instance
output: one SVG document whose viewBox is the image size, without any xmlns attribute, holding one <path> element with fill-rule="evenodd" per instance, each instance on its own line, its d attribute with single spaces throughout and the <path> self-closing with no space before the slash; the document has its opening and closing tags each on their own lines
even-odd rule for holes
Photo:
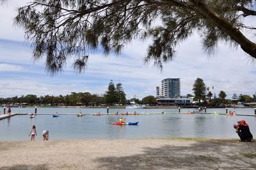
<svg viewBox="0 0 256 170">
<path fill-rule="evenodd" d="M 234 109 L 229 108 L 234 111 Z M 228 110 L 229 110 L 228 109 Z M 0 108 L 3 114 L 3 108 Z M 12 108 L 12 112 L 34 112 L 35 108 Z M 77 117 L 77 112 L 87 113 Z M 162 138 L 162 137 L 216 137 L 237 138 L 233 125 L 238 120 L 246 120 L 250 130 L 256 137 L 256 117 L 225 116 L 215 114 L 182 114 L 178 109 L 109 109 L 110 113 L 121 112 L 170 112 L 170 114 L 140 114 L 122 116 L 126 121 L 140 121 L 138 125 L 116 126 L 120 116 L 92 116 L 90 113 L 106 112 L 102 108 L 53 108 L 38 107 L 38 115 L 30 119 L 28 115 L 13 116 L 0 120 L 1 141 L 28 141 L 31 125 L 36 125 L 36 141 L 42 140 L 42 131 L 49 130 L 49 139 L 127 139 L 127 138 Z M 181 109 L 181 112 L 196 109 Z M 207 109 L 207 112 L 225 112 L 224 109 Z M 52 118 L 52 113 L 61 114 Z M 40 113 L 46 113 L 42 115 Z M 236 108 L 237 114 L 254 114 L 253 108 Z"/>
</svg>

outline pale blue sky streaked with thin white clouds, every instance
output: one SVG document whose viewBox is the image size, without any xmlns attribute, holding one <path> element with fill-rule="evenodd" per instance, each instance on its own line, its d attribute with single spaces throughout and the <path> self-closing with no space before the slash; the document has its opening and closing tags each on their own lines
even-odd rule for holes
<svg viewBox="0 0 256 170">
<path fill-rule="evenodd" d="M 68 61 L 59 75 L 45 72 L 44 58 L 34 61 L 31 46 L 24 39 L 24 30 L 13 24 L 18 6 L 29 1 L 10 0 L 0 5 L 0 98 L 21 95 L 68 95 L 71 92 L 104 94 L 111 80 L 121 82 L 127 99 L 156 96 L 156 86 L 166 78 L 180 78 L 181 95 L 193 94 L 193 84 L 199 77 L 212 93 L 256 93 L 256 65 L 239 47 L 220 43 L 214 56 L 206 56 L 198 33 L 176 48 L 172 61 L 163 70 L 143 63 L 150 41 L 134 40 L 119 54 L 89 55 L 86 70 L 77 75 Z M 255 22 L 250 20 L 249 22 Z M 255 38 L 253 36 L 249 38 Z M 214 86 L 214 89 L 212 89 Z"/>
</svg>

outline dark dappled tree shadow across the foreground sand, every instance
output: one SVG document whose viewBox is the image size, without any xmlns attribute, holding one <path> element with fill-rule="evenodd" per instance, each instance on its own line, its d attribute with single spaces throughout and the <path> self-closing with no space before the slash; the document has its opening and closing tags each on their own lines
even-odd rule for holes
<svg viewBox="0 0 256 170">
<path fill-rule="evenodd" d="M 154 146 L 152 146 L 154 147 Z M 94 160 L 99 169 L 255 169 L 256 143 L 198 141 L 191 146 L 143 148 L 144 153 Z M 124 146 L 125 150 L 125 146 Z M 244 153 L 253 157 L 245 157 Z"/>
</svg>

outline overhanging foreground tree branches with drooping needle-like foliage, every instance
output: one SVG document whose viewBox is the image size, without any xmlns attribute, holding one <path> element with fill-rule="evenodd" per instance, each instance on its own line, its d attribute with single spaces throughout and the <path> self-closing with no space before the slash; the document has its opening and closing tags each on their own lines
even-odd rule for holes
<svg viewBox="0 0 256 170">
<path fill-rule="evenodd" d="M 162 68 L 193 31 L 208 54 L 224 41 L 255 59 L 256 44 L 243 34 L 255 33 L 244 22 L 255 17 L 254 9 L 255 0 L 36 0 L 19 8 L 15 22 L 32 42 L 34 59 L 46 56 L 47 71 L 54 74 L 70 56 L 76 57 L 74 70 L 82 72 L 90 50 L 118 54 L 134 38 L 152 38 L 145 62 Z"/>
</svg>

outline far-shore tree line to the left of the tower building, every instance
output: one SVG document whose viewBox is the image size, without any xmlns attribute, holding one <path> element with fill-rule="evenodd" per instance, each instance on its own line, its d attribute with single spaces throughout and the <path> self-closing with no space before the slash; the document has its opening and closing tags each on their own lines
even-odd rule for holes
<svg viewBox="0 0 256 170">
<path fill-rule="evenodd" d="M 36 95 L 22 95 L 21 97 L 0 98 L 0 105 L 83 105 L 83 106 L 113 106 L 113 105 L 125 105 L 130 102 L 136 102 L 138 104 L 156 104 L 156 98 L 148 96 L 139 100 L 138 98 L 126 99 L 122 83 L 116 85 L 111 80 L 109 82 L 108 90 L 104 95 L 91 94 L 89 92 L 72 92 L 70 95 L 59 95 L 57 97 L 45 95 L 37 97 Z"/>
</svg>

